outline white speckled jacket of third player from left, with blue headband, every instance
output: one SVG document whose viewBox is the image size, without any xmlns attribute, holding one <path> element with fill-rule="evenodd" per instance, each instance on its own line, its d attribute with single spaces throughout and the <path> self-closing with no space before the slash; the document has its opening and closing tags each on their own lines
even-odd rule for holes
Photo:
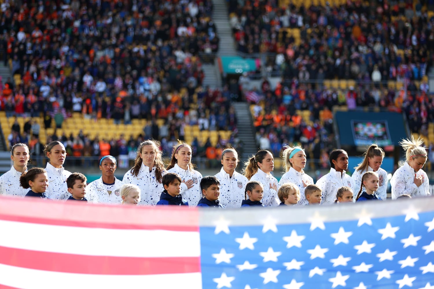
<svg viewBox="0 0 434 289">
<path fill-rule="evenodd" d="M 105 204 L 121 204 L 122 197 L 120 195 L 121 187 L 124 183 L 116 179 L 112 190 L 107 191 L 107 187 L 102 182 L 102 177 L 91 182 L 86 187 L 86 199 L 89 203 L 105 203 Z"/>
</svg>

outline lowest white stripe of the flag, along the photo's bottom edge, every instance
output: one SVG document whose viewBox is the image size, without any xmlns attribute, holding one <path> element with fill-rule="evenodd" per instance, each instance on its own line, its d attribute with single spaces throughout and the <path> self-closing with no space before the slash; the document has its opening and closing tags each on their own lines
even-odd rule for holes
<svg viewBox="0 0 434 289">
<path fill-rule="evenodd" d="M 122 246 L 124 247 L 124 246 Z M 0 284 L 20 289 L 201 289 L 201 273 L 92 275 L 26 269 L 0 264 Z"/>
</svg>

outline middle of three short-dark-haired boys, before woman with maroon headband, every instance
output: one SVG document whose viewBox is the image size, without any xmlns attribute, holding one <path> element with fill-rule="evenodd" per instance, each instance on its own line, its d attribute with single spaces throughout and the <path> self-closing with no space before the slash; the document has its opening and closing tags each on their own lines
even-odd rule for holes
<svg viewBox="0 0 434 289">
<path fill-rule="evenodd" d="M 174 173 L 168 172 L 163 175 L 162 184 L 164 191 L 161 193 L 160 201 L 157 205 L 175 205 L 188 206 L 188 202 L 182 199 L 181 195 L 181 177 Z"/>
</svg>

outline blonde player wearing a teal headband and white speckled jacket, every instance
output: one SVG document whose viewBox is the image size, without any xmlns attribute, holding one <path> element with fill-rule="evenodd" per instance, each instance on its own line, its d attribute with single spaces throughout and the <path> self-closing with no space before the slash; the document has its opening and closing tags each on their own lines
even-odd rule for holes
<svg viewBox="0 0 434 289">
<path fill-rule="evenodd" d="M 279 181 L 279 187 L 286 183 L 295 184 L 300 190 L 300 200 L 297 205 L 307 205 L 304 189 L 313 184 L 313 179 L 305 174 L 306 153 L 301 146 L 286 146 L 283 151 L 283 163 L 286 172 Z"/>
</svg>

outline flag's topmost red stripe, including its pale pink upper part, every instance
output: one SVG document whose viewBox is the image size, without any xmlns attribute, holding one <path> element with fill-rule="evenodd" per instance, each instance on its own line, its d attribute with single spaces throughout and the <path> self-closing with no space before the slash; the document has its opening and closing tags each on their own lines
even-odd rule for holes
<svg viewBox="0 0 434 289">
<path fill-rule="evenodd" d="M 195 208 L 81 203 L 0 196 L 0 218 L 64 226 L 199 230 L 199 211 Z"/>
</svg>

